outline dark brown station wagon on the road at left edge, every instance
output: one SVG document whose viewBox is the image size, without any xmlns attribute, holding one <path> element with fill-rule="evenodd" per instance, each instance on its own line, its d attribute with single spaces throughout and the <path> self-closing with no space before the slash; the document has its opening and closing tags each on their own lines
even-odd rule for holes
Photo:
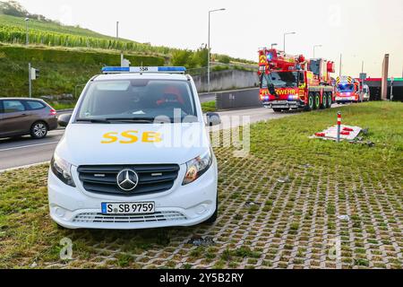
<svg viewBox="0 0 403 287">
<path fill-rule="evenodd" d="M 0 138 L 30 135 L 40 139 L 56 128 L 56 110 L 44 100 L 0 98 Z"/>
</svg>

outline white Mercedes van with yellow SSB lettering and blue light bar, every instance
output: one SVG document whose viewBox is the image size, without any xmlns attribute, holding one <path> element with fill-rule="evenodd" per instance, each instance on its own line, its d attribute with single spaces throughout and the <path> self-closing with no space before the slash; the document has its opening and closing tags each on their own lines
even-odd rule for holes
<svg viewBox="0 0 403 287">
<path fill-rule="evenodd" d="M 183 67 L 105 67 L 81 94 L 48 175 L 50 215 L 68 229 L 215 222 L 218 167 Z M 207 126 L 219 125 L 207 115 Z"/>
</svg>

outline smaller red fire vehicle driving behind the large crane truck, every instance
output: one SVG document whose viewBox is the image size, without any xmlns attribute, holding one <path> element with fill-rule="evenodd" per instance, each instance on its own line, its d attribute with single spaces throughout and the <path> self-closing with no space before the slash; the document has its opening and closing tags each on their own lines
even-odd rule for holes
<svg viewBox="0 0 403 287">
<path fill-rule="evenodd" d="M 336 79 L 337 91 L 336 102 L 360 102 L 363 101 L 361 93 L 361 84 L 357 79 L 350 76 L 341 76 Z"/>
</svg>

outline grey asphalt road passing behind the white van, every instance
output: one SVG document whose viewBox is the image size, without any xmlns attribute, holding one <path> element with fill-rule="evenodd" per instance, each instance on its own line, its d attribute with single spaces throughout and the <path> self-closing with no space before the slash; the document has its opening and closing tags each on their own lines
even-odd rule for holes
<svg viewBox="0 0 403 287">
<path fill-rule="evenodd" d="M 201 96 L 201 100 L 210 101 L 214 98 Z M 333 108 L 337 108 L 334 105 Z M 59 112 L 60 114 L 68 111 Z M 225 121 L 226 117 L 249 117 L 250 123 L 263 120 L 270 120 L 279 117 L 290 117 L 297 115 L 299 112 L 274 113 L 272 109 L 255 108 L 255 109 L 236 109 L 219 112 L 220 117 Z M 244 122 L 246 123 L 246 122 Z M 0 139 L 0 171 L 15 169 L 29 166 L 41 162 L 50 161 L 57 143 L 64 134 L 64 130 L 56 130 L 49 132 L 47 138 L 42 140 L 33 140 L 30 136 L 23 136 L 19 139 Z"/>
</svg>

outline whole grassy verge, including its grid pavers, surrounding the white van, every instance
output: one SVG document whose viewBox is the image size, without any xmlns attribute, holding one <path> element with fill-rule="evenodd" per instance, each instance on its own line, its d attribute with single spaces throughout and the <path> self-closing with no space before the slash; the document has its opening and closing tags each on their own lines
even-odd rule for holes
<svg viewBox="0 0 403 287">
<path fill-rule="evenodd" d="M 401 268 L 403 105 L 340 110 L 345 124 L 369 128 L 374 147 L 308 139 L 335 124 L 332 109 L 253 125 L 247 158 L 217 148 L 213 227 L 59 230 L 47 211 L 47 166 L 1 174 L 0 267 Z M 186 244 L 218 233 L 210 248 Z M 73 240 L 73 261 L 59 258 L 64 237 Z M 338 263 L 326 256 L 330 239 L 341 241 Z"/>
</svg>

